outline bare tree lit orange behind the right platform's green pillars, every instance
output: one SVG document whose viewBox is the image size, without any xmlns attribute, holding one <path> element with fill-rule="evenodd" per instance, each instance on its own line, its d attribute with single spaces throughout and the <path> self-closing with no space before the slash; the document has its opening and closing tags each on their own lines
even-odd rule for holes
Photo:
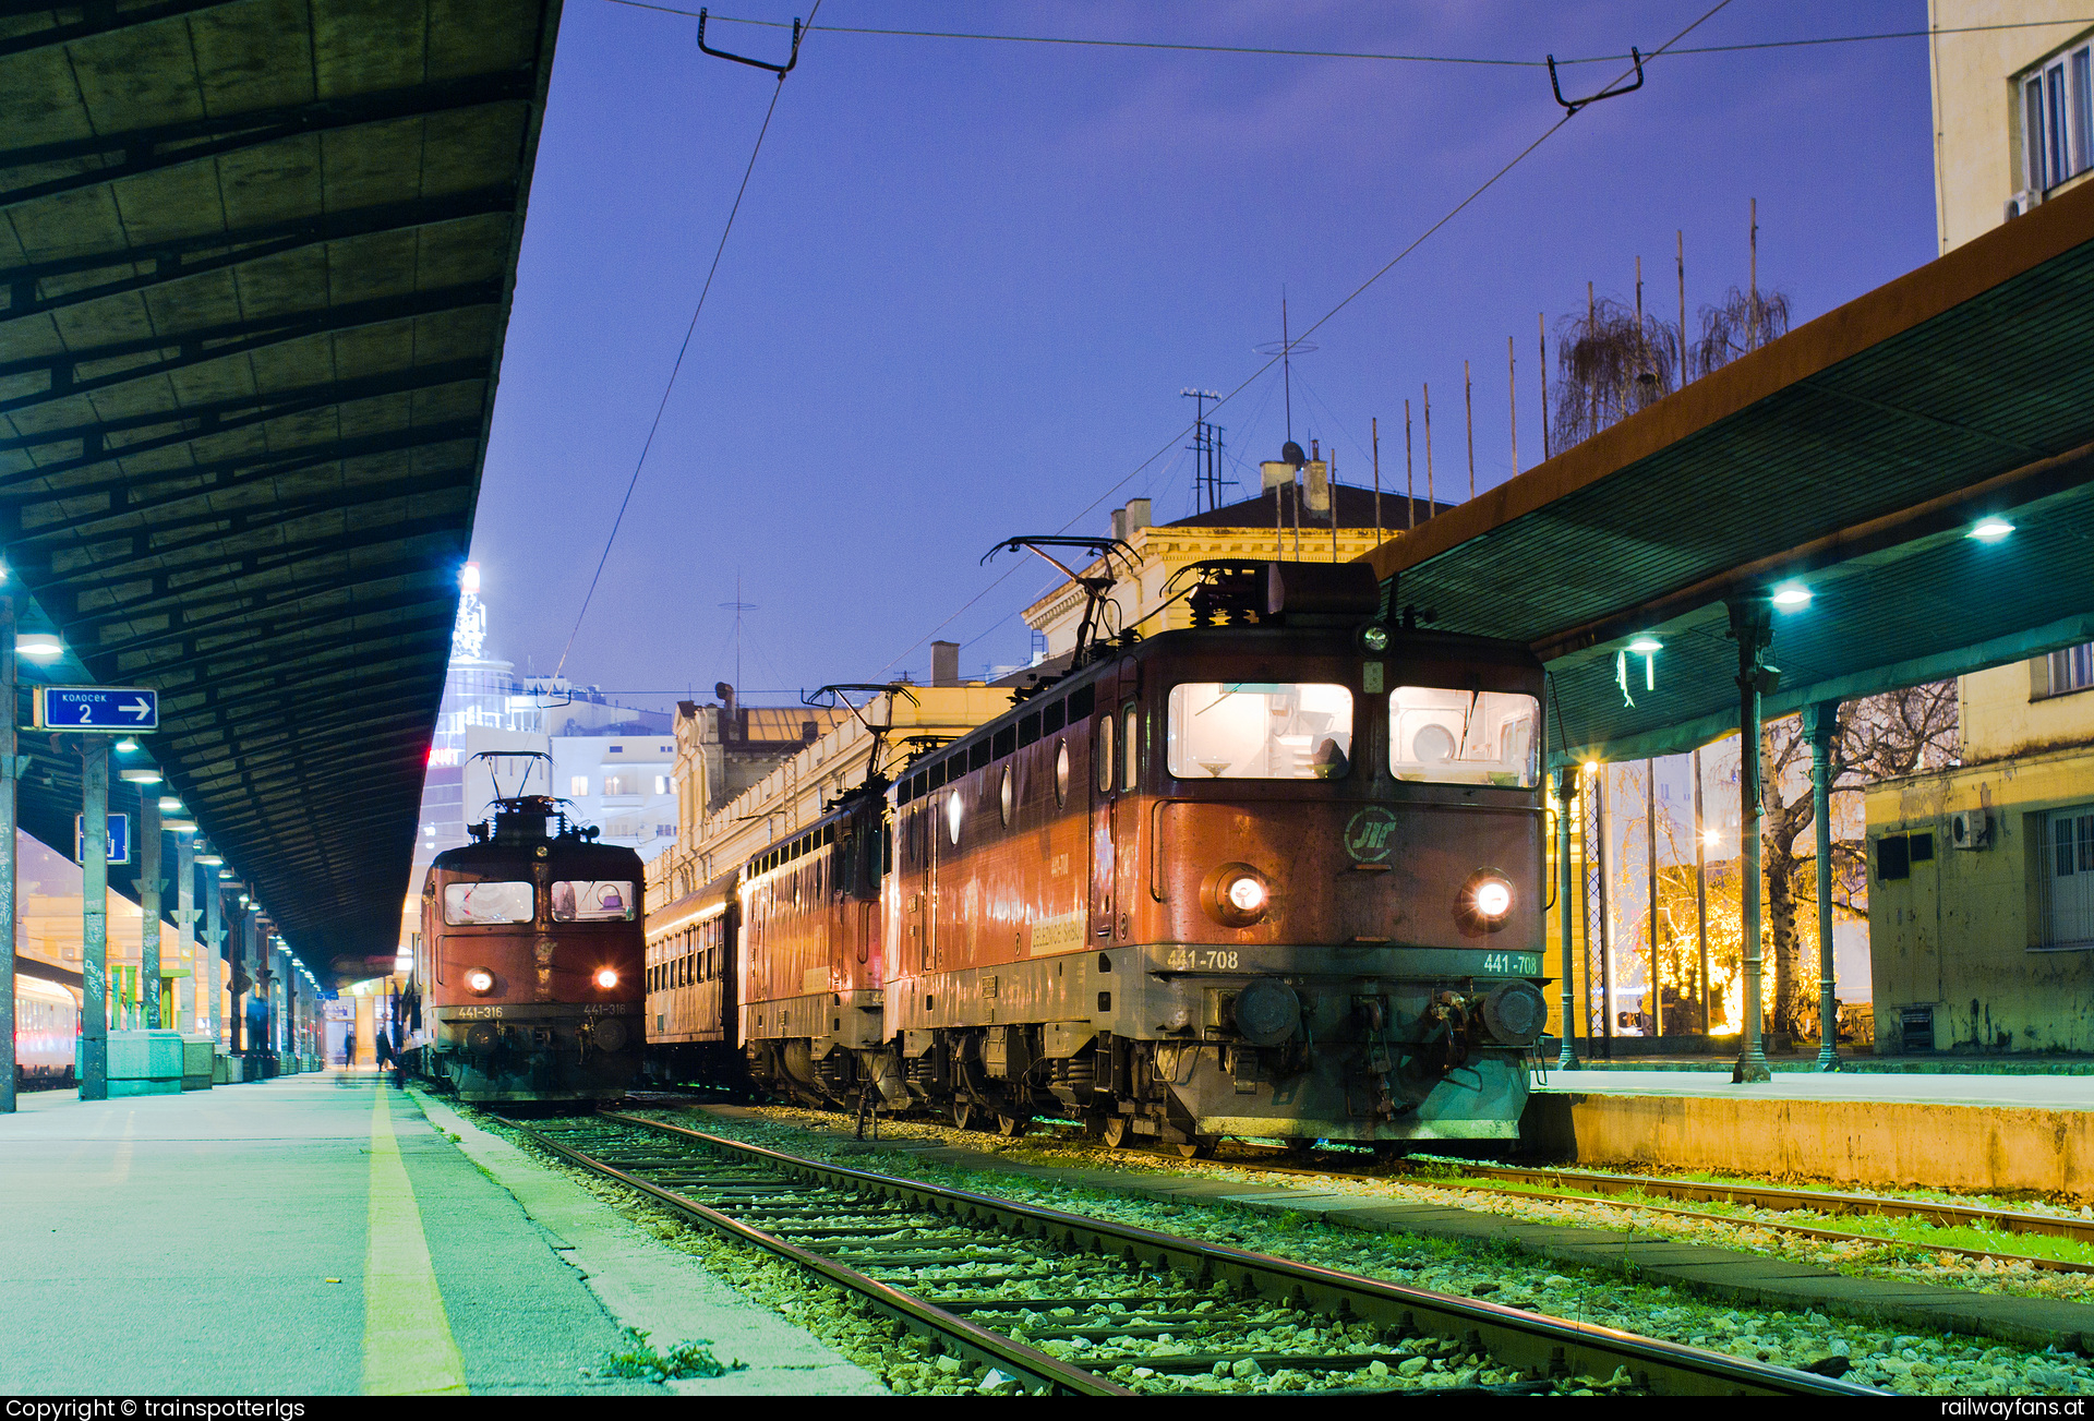
<svg viewBox="0 0 2094 1421">
<path fill-rule="evenodd" d="M 1958 749 L 1956 709 L 1954 680 L 1845 701 L 1839 737 L 1832 741 L 1832 793 L 1853 795 L 1876 781 L 1952 764 Z M 1818 898 L 1815 845 L 1809 854 L 1799 852 L 1805 837 L 1815 837 L 1818 825 L 1811 806 L 1809 760 L 1811 745 L 1803 732 L 1801 716 L 1767 722 L 1759 739 L 1765 804 L 1759 839 L 1767 875 L 1767 935 L 1774 956 L 1772 1023 L 1780 1032 L 1803 1032 L 1805 1017 L 1815 1019 L 1813 1005 L 1805 1011 L 1801 986 L 1803 940 L 1809 938 L 1815 946 L 1818 917 L 1809 912 L 1805 923 L 1799 921 L 1797 912 L 1799 904 Z M 1832 843 L 1834 915 L 1849 921 L 1868 917 L 1866 848 L 1866 841 L 1855 837 L 1834 837 Z"/>
</svg>

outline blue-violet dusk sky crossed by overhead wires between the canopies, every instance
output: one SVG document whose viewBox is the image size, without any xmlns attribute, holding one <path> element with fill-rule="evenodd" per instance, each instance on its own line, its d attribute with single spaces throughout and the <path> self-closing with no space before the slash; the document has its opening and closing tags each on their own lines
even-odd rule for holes
<svg viewBox="0 0 2094 1421">
<path fill-rule="evenodd" d="M 1539 61 L 1648 50 L 1707 8 L 827 0 L 819 21 Z M 1686 44 L 1924 23 L 1918 0 L 1734 0 Z M 787 44 L 731 23 L 708 40 Z M 1566 90 L 1610 73 L 1573 69 Z M 699 54 L 695 19 L 567 0 L 473 536 L 492 649 L 519 670 L 551 670 L 576 626 L 773 88 Z M 1531 67 L 817 29 L 567 674 L 634 703 L 710 695 L 735 676 L 720 603 L 739 576 L 758 699 L 923 678 L 934 628 L 1009 565 L 978 567 L 990 544 L 1104 532 L 1143 494 L 1158 521 L 1189 513 L 1177 391 L 1233 389 L 1279 337 L 1282 289 L 1300 331 L 1558 115 Z M 1478 483 L 1497 483 L 1508 335 L 1531 467 L 1537 312 L 1581 310 L 1587 280 L 1631 297 L 1642 255 L 1646 301 L 1671 316 L 1675 228 L 1690 308 L 1715 301 L 1746 280 L 1757 197 L 1761 283 L 1818 316 L 1935 255 L 1929 130 L 1924 40 L 1658 61 L 1311 337 L 1294 433 L 1365 483 L 1380 416 L 1382 479 L 1401 486 L 1403 400 L 1430 383 L 1439 488 L 1466 494 L 1468 358 Z M 1277 381 L 1217 416 L 1252 490 L 1284 439 Z M 1028 657 L 1018 609 L 1049 586 L 1034 567 L 936 632 L 967 674 Z"/>
</svg>

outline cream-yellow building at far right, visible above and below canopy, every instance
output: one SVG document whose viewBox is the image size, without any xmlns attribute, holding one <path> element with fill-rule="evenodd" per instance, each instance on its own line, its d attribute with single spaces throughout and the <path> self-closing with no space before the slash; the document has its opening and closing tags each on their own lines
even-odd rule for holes
<svg viewBox="0 0 2094 1421">
<path fill-rule="evenodd" d="M 1941 251 L 2094 174 L 2081 15 L 1931 0 L 1966 31 L 1929 40 Z M 1868 793 L 1878 1048 L 2094 1051 L 2094 645 L 1962 676 L 1958 701 L 1960 764 Z"/>
</svg>

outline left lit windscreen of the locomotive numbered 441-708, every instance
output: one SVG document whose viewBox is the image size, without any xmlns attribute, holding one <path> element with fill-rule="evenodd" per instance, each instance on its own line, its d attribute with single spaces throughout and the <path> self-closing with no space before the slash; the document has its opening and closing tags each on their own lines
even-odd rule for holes
<svg viewBox="0 0 2094 1421">
<path fill-rule="evenodd" d="M 1164 753 L 1177 779 L 1342 779 L 1353 693 L 1323 682 L 1189 680 L 1171 686 Z"/>
</svg>

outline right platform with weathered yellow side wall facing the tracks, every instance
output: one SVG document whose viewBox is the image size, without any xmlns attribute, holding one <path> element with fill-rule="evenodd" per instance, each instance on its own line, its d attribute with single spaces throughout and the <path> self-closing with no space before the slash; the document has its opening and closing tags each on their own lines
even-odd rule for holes
<svg viewBox="0 0 2094 1421">
<path fill-rule="evenodd" d="M 1537 1074 L 1527 1149 L 1862 1189 L 2094 1199 L 2094 1078 L 2079 1074 L 1709 1069 Z"/>
</svg>

